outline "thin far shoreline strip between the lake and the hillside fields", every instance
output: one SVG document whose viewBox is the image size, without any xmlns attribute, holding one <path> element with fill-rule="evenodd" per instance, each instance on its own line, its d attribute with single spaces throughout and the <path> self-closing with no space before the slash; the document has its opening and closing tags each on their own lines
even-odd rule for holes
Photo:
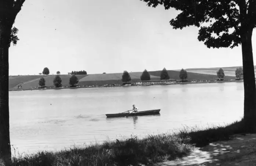
<svg viewBox="0 0 256 166">
<path fill-rule="evenodd" d="M 223 81 L 209 81 L 209 82 L 176 82 L 176 83 L 172 83 L 172 84 L 157 84 L 157 85 L 175 85 L 175 84 L 202 84 L 202 83 L 228 83 L 228 82 L 244 82 L 243 80 L 223 80 Z M 144 85 L 144 86 L 157 86 L 157 85 Z M 143 85 L 131 85 L 131 86 L 143 86 Z M 78 85 L 75 87 L 70 87 L 70 86 L 66 86 L 66 87 L 59 87 L 56 88 L 54 86 L 52 87 L 45 87 L 45 88 L 41 88 L 41 87 L 33 87 L 33 88 L 21 88 L 19 89 L 18 87 L 16 88 L 10 88 L 9 91 L 27 91 L 27 90 L 51 90 L 51 89 L 55 89 L 55 90 L 60 90 L 60 89 L 77 89 L 77 88 L 110 88 L 110 87 L 123 87 L 122 85 L 120 86 L 113 86 L 113 85 L 109 85 L 109 86 L 85 86 L 85 85 Z"/>
</svg>

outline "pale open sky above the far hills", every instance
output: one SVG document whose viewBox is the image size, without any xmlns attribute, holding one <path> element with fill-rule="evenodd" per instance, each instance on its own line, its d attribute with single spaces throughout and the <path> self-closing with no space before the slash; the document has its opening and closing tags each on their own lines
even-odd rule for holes
<svg viewBox="0 0 256 166">
<path fill-rule="evenodd" d="M 16 17 L 10 75 L 88 74 L 242 65 L 241 46 L 208 49 L 198 28 L 172 29 L 179 11 L 140 0 L 26 0 Z M 254 31 L 252 42 L 256 42 Z M 253 53 L 256 44 L 253 45 Z"/>
</svg>

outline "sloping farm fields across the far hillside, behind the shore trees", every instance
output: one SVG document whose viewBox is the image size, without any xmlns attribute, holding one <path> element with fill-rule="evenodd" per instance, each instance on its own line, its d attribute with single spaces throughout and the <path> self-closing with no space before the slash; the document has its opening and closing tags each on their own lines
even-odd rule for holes
<svg viewBox="0 0 256 166">
<path fill-rule="evenodd" d="M 235 68 L 235 67 L 234 67 Z M 216 71 L 213 69 L 203 70 L 203 69 L 188 69 L 188 80 L 216 80 Z M 228 76 L 228 72 L 226 71 L 225 76 L 226 80 L 235 79 L 234 76 Z M 160 80 L 161 71 L 149 71 L 151 75 L 151 80 Z M 142 72 L 130 72 L 131 82 L 140 81 L 140 76 Z M 168 71 L 168 74 L 171 79 L 179 80 L 179 71 Z M 231 74 L 230 74 L 231 75 Z M 69 78 L 71 75 L 61 75 L 63 86 L 69 86 Z M 50 76 L 9 76 L 9 90 L 17 89 L 17 86 L 22 84 L 22 88 L 30 88 L 30 87 L 39 87 L 39 79 L 41 77 L 45 78 L 45 85 L 47 87 L 53 87 L 53 79 L 55 75 Z M 91 75 L 77 75 L 79 83 L 78 85 L 113 85 L 113 84 L 122 84 L 122 73 L 108 73 L 108 74 L 91 74 Z"/>
</svg>

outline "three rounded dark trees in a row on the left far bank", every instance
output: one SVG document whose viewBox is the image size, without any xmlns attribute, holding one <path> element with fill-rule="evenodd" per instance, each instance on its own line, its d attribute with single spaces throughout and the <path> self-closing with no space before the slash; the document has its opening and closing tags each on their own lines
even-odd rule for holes
<svg viewBox="0 0 256 166">
<path fill-rule="evenodd" d="M 78 83 L 78 78 L 76 75 L 72 75 L 70 78 L 69 78 L 69 84 L 70 86 L 74 86 Z M 41 87 L 44 87 L 45 86 L 45 79 L 42 77 L 39 79 L 39 86 Z M 56 75 L 54 80 L 53 80 L 53 84 L 55 87 L 61 87 L 62 86 L 62 80 L 61 80 L 61 77 L 59 75 Z"/>
</svg>

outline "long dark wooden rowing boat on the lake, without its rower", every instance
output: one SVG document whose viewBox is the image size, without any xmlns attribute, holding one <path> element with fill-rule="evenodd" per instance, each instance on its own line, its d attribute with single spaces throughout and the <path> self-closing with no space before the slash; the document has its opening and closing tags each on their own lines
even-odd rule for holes
<svg viewBox="0 0 256 166">
<path fill-rule="evenodd" d="M 106 114 L 107 117 L 125 117 L 125 116 L 145 116 L 145 115 L 156 115 L 160 114 L 160 109 L 140 111 L 136 113 L 117 113 L 117 114 Z"/>
</svg>

